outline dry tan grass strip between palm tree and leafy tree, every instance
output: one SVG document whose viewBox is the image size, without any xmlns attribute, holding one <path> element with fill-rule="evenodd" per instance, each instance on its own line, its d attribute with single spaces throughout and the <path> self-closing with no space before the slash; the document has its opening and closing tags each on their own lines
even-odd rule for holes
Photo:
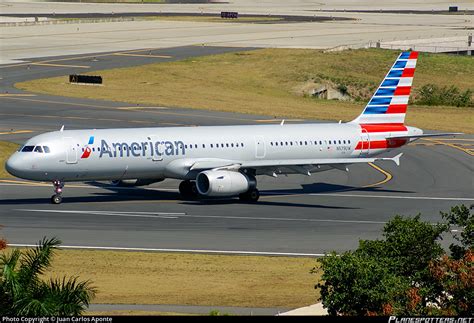
<svg viewBox="0 0 474 323">
<path fill-rule="evenodd" d="M 48 276 L 79 276 L 93 303 L 300 307 L 319 297 L 312 258 L 60 250 Z"/>
</svg>

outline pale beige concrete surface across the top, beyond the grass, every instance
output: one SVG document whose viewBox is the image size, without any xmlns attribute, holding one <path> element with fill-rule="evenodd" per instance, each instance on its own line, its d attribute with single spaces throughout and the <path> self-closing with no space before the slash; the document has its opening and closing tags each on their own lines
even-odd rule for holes
<svg viewBox="0 0 474 323">
<path fill-rule="evenodd" d="M 338 46 L 366 46 L 403 42 L 407 46 L 466 46 L 474 25 L 472 0 L 457 0 L 457 14 L 447 11 L 450 1 L 410 0 L 331 0 L 251 1 L 197 4 L 90 4 L 2 2 L 0 22 L 25 21 L 25 15 L 43 19 L 50 15 L 137 15 L 153 12 L 208 13 L 237 11 L 265 16 L 291 15 L 323 18 L 350 18 L 346 21 L 282 24 L 215 23 L 193 21 L 97 21 L 96 23 L 36 24 L 2 27 L 0 64 L 37 57 L 86 54 L 142 48 L 169 48 L 189 45 L 227 47 L 280 47 L 327 49 Z M 357 12 L 372 10 L 375 12 Z M 408 10 L 394 13 L 393 10 Z M 433 14 L 427 14 L 427 12 Z M 18 15 L 19 18 L 13 18 Z M 43 15 L 43 16 L 42 16 Z M 0 15 L 1 16 L 1 15 Z M 82 21 L 85 22 L 85 21 Z M 462 40 L 459 43 L 459 40 Z M 454 41 L 454 42 L 453 42 Z M 397 48 L 397 47 L 395 47 Z"/>
</svg>

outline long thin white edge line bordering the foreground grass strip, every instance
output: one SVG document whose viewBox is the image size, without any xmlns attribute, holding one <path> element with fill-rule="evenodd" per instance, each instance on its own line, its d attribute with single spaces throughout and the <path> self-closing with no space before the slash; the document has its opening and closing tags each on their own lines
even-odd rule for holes
<svg viewBox="0 0 474 323">
<path fill-rule="evenodd" d="M 36 247 L 35 244 L 9 243 L 9 247 Z M 96 250 L 123 250 L 123 251 L 158 251 L 158 252 L 187 252 L 187 253 L 216 253 L 230 255 L 261 255 L 261 256 L 299 256 L 323 257 L 322 253 L 272 252 L 272 251 L 240 251 L 240 250 L 205 250 L 205 249 L 162 249 L 162 248 L 129 248 L 129 247 L 101 247 L 101 246 L 59 246 L 64 249 L 96 249 Z"/>
</svg>

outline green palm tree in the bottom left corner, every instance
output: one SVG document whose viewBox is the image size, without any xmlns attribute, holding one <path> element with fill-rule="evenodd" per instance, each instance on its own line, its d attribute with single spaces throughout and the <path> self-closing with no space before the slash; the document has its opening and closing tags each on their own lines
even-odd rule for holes
<svg viewBox="0 0 474 323">
<path fill-rule="evenodd" d="M 89 281 L 39 277 L 60 244 L 57 238 L 43 238 L 33 249 L 0 255 L 0 315 L 80 315 L 89 306 L 95 295 Z"/>
</svg>

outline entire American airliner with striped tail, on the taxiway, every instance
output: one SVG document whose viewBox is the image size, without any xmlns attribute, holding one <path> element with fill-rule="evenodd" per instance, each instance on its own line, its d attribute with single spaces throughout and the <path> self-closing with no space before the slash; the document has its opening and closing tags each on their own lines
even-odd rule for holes
<svg viewBox="0 0 474 323">
<path fill-rule="evenodd" d="M 364 111 L 348 123 L 90 129 L 49 132 L 31 138 L 7 161 L 7 171 L 51 181 L 59 204 L 65 182 L 110 180 L 139 186 L 182 180 L 184 198 L 232 197 L 255 202 L 256 175 L 347 171 L 355 163 L 393 161 L 374 157 L 421 137 L 404 125 L 417 52 L 401 53 Z"/>
</svg>

